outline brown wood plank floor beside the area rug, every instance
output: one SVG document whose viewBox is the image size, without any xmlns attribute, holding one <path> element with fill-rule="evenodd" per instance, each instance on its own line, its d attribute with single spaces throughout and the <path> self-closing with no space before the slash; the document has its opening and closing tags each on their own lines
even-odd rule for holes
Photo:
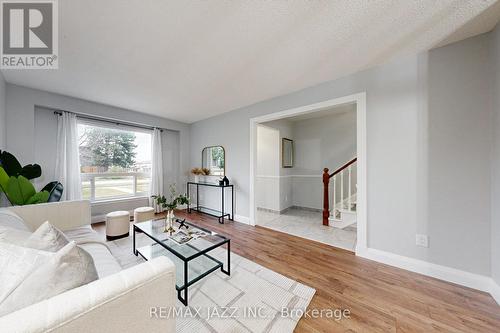
<svg viewBox="0 0 500 333">
<path fill-rule="evenodd" d="M 310 309 L 350 310 L 340 321 L 302 318 L 295 332 L 500 332 L 500 306 L 486 293 L 271 229 L 176 216 L 228 236 L 233 252 L 315 288 Z"/>
</svg>

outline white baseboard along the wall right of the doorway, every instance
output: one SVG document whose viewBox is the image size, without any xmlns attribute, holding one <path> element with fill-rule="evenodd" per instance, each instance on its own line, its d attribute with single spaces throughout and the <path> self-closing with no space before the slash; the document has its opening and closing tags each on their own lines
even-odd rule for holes
<svg viewBox="0 0 500 333">
<path fill-rule="evenodd" d="M 356 255 L 411 272 L 490 293 L 495 301 L 500 304 L 500 287 L 489 276 L 470 273 L 456 268 L 433 264 L 372 248 L 357 248 Z"/>
</svg>

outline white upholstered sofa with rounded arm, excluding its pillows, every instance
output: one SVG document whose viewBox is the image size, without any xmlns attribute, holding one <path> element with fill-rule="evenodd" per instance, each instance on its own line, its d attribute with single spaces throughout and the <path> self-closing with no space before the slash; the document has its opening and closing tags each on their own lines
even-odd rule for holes
<svg viewBox="0 0 500 333">
<path fill-rule="evenodd" d="M 89 201 L 7 207 L 32 231 L 45 221 L 69 239 L 99 238 L 90 227 Z M 2 332 L 174 332 L 175 318 L 152 318 L 152 307 L 176 304 L 175 267 L 166 257 L 129 269 L 104 244 L 85 242 L 99 279 L 0 317 Z M 132 249 L 130 249 L 132 253 Z"/>
</svg>

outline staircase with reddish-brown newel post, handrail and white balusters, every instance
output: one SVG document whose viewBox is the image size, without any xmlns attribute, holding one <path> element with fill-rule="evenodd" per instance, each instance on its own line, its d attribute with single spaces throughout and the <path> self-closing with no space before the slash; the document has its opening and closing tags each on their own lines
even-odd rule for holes
<svg viewBox="0 0 500 333">
<path fill-rule="evenodd" d="M 356 223 L 356 162 L 353 158 L 332 174 L 323 170 L 323 225 L 343 229 Z"/>
</svg>

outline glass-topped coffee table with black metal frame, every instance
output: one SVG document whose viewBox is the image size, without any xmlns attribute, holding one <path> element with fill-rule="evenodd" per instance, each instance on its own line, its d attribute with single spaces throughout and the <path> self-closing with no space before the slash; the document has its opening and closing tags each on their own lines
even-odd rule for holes
<svg viewBox="0 0 500 333">
<path fill-rule="evenodd" d="M 190 241 L 179 244 L 170 238 L 170 234 L 163 232 L 163 220 L 150 220 L 134 224 L 133 242 L 134 254 L 140 255 L 145 260 L 151 260 L 159 256 L 167 256 L 175 264 L 175 288 L 177 297 L 184 304 L 188 305 L 188 287 L 200 281 L 205 276 L 220 270 L 230 275 L 231 267 L 231 244 L 230 239 L 208 229 L 200 228 L 192 223 L 184 222 L 188 229 L 181 228 L 182 231 L 201 230 L 206 235 L 193 238 Z M 174 222 L 174 228 L 178 230 L 178 223 Z M 136 248 L 136 232 L 142 232 L 154 243 L 151 245 Z M 227 244 L 226 269 L 222 261 L 210 255 L 214 249 Z"/>
</svg>

